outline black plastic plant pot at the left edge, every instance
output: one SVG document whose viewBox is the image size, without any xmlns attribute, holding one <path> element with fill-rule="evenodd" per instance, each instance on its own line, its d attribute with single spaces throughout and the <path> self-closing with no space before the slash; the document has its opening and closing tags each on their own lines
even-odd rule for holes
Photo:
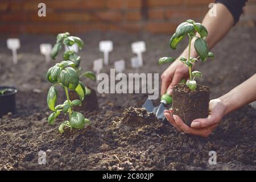
<svg viewBox="0 0 256 182">
<path fill-rule="evenodd" d="M 16 111 L 16 93 L 17 89 L 11 86 L 0 86 L 0 91 L 6 90 L 1 94 L 0 92 L 0 118 L 9 112 L 15 114 Z"/>
</svg>

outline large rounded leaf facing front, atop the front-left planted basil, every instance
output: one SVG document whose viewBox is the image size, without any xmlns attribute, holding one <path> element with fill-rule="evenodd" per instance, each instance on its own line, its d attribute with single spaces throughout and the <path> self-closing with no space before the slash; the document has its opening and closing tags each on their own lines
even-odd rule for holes
<svg viewBox="0 0 256 182">
<path fill-rule="evenodd" d="M 69 89 L 74 90 L 79 84 L 79 76 L 75 69 L 68 67 L 60 72 L 60 82 Z"/>
</svg>

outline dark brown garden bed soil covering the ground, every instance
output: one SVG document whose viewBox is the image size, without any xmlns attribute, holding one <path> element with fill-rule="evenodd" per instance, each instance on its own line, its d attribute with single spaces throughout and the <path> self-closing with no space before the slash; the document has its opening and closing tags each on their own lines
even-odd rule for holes
<svg viewBox="0 0 256 182">
<path fill-rule="evenodd" d="M 114 51 L 110 53 L 110 66 L 104 68 L 106 73 L 114 60 L 133 56 L 130 43 L 136 40 L 146 41 L 145 65 L 134 70 L 127 63 L 126 73 L 162 73 L 166 67 L 157 64 L 159 57 L 177 56 L 185 47 L 181 44 L 177 51 L 170 52 L 169 35 L 92 32 L 81 38 L 90 45 L 80 53 L 84 71 L 92 70 L 92 61 L 102 56 L 98 42 L 113 40 Z M 47 122 L 50 112 L 46 96 L 51 84 L 45 74 L 55 63 L 46 65 L 44 56 L 39 55 L 39 44 L 53 44 L 55 37 L 30 35 L 20 40 L 17 65 L 11 62 L 6 39 L 0 41 L 1 85 L 18 88 L 18 113 L 0 119 L 0 169 L 255 170 L 256 112 L 250 106 L 230 113 L 208 138 L 200 138 L 179 133 L 140 109 L 147 98 L 145 94 L 97 94 L 99 110 L 82 111 L 92 125 L 59 134 L 57 127 L 65 116 L 60 115 L 53 126 Z M 210 98 L 221 96 L 255 73 L 255 41 L 255 28 L 234 28 L 212 50 L 215 60 L 197 65 L 204 74 L 197 82 L 209 86 Z M 94 82 L 82 81 L 97 88 Z M 59 90 L 57 102 L 64 100 L 64 92 Z M 47 154 L 46 165 L 38 164 L 40 150 Z M 212 150 L 217 152 L 216 165 L 208 163 Z"/>
</svg>

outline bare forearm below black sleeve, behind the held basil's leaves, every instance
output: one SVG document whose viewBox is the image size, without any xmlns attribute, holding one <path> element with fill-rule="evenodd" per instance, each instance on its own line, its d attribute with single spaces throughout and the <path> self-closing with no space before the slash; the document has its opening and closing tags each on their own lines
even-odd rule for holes
<svg viewBox="0 0 256 182">
<path fill-rule="evenodd" d="M 209 16 L 207 13 L 202 22 L 208 30 L 208 36 L 205 40 L 208 43 L 209 49 L 215 46 L 215 44 L 217 44 L 229 32 L 234 24 L 234 18 L 226 6 L 221 3 L 217 3 L 216 12 L 217 16 Z M 195 39 L 192 40 L 191 57 L 197 57 L 197 52 L 193 46 L 194 42 Z M 181 56 L 188 56 L 188 47 L 185 48 Z"/>
</svg>

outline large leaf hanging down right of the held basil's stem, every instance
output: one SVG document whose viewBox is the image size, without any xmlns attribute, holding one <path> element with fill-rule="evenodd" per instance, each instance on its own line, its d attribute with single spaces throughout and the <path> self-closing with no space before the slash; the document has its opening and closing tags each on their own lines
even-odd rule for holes
<svg viewBox="0 0 256 182">
<path fill-rule="evenodd" d="M 205 40 L 202 38 L 197 38 L 194 43 L 194 46 L 196 52 L 200 56 L 201 61 L 205 61 L 209 53 L 207 42 L 205 42 Z"/>
</svg>

